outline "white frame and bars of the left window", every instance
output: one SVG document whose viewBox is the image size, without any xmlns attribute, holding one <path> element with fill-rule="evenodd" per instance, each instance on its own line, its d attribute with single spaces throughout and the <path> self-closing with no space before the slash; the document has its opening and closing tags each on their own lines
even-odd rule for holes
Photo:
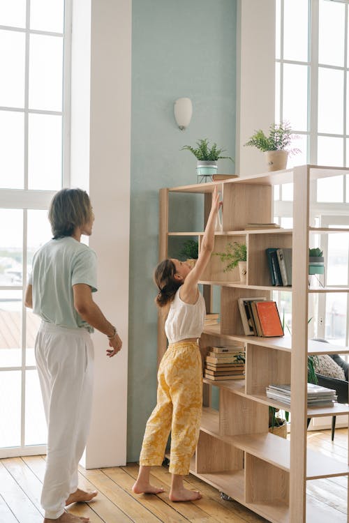
<svg viewBox="0 0 349 523">
<path fill-rule="evenodd" d="M 22 290 L 22 365 L 18 367 L 0 367 L 1 372 L 22 372 L 22 394 L 21 394 L 21 443 L 20 446 L 0 448 L 0 458 L 20 455 L 38 455 L 45 453 L 46 445 L 25 446 L 25 378 L 27 370 L 36 369 L 35 366 L 25 365 L 26 358 L 26 309 L 24 307 L 24 294 L 27 287 L 27 210 L 47 210 L 55 190 L 29 190 L 28 188 L 28 121 L 29 114 L 53 114 L 62 116 L 62 179 L 61 186 L 70 185 L 70 64 L 71 64 L 71 28 L 72 28 L 72 2 L 65 0 L 64 5 L 64 33 L 52 33 L 48 31 L 33 31 L 29 29 L 30 0 L 27 0 L 27 20 L 25 28 L 1 26 L 6 31 L 19 31 L 25 33 L 25 94 L 24 109 L 17 107 L 0 107 L 3 111 L 16 111 L 24 113 L 24 188 L 23 189 L 0 189 L 0 209 L 22 209 L 23 210 L 23 281 L 22 285 L 0 286 L 0 290 L 12 291 Z M 61 112 L 29 109 L 29 36 L 40 34 L 48 36 L 61 36 L 64 38 L 64 93 L 63 107 Z M 47 238 L 48 239 L 48 238 Z"/>
</svg>

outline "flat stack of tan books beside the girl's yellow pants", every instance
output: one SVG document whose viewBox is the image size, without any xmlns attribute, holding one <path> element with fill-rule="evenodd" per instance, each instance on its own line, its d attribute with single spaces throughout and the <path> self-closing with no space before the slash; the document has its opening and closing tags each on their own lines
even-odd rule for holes
<svg viewBox="0 0 349 523">
<path fill-rule="evenodd" d="M 244 347 L 210 347 L 205 358 L 205 378 L 220 381 L 244 377 Z"/>
</svg>

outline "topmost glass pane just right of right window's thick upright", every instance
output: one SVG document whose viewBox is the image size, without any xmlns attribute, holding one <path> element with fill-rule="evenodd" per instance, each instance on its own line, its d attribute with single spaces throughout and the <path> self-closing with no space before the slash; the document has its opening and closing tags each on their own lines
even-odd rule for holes
<svg viewBox="0 0 349 523">
<path fill-rule="evenodd" d="M 319 63 L 344 66 L 345 6 L 340 2 L 319 2 Z"/>
</svg>

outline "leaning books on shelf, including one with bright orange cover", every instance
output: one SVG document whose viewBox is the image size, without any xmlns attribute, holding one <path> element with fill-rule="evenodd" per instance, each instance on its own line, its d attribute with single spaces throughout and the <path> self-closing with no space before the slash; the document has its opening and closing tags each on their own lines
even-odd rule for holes
<svg viewBox="0 0 349 523">
<path fill-rule="evenodd" d="M 239 298 L 239 311 L 246 336 L 262 338 L 283 336 L 279 311 L 275 301 L 260 298 Z"/>
</svg>

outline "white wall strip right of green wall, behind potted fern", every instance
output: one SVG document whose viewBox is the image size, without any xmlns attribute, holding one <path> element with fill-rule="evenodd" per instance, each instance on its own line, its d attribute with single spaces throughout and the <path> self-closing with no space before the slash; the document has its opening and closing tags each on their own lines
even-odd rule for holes
<svg viewBox="0 0 349 523">
<path fill-rule="evenodd" d="M 267 171 L 264 154 L 244 147 L 256 129 L 275 118 L 275 1 L 239 0 L 237 33 L 236 172 Z M 243 57 L 243 60 L 241 59 Z"/>
</svg>

